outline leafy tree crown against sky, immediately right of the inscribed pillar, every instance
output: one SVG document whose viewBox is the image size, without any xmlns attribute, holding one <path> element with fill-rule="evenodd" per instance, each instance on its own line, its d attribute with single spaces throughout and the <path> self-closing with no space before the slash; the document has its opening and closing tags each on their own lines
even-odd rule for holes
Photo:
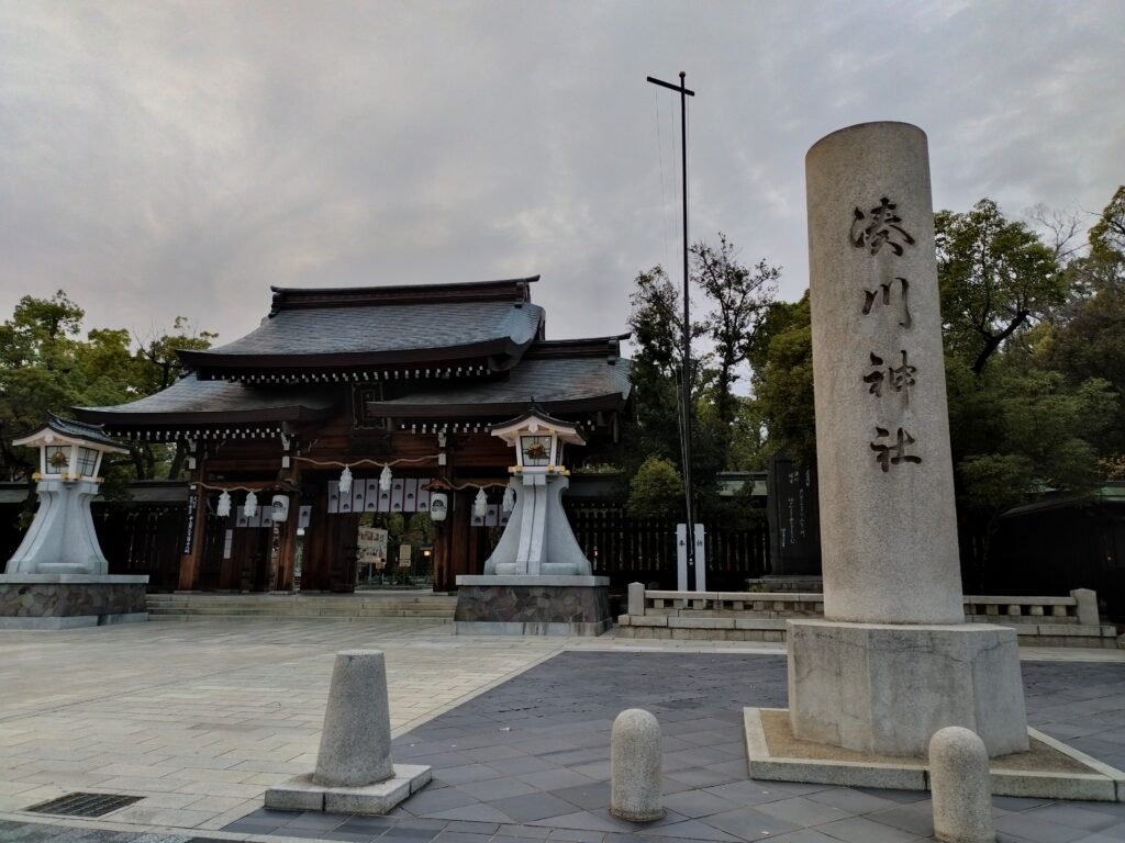
<svg viewBox="0 0 1125 843">
<path fill-rule="evenodd" d="M 1061 305 L 1065 279 L 1053 250 L 991 199 L 934 217 L 946 346 L 980 374 L 1035 315 Z"/>
</svg>

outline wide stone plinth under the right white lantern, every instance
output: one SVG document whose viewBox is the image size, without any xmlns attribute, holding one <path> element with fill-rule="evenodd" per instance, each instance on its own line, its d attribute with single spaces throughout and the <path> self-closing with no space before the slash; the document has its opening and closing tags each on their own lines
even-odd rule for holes
<svg viewBox="0 0 1125 843">
<path fill-rule="evenodd" d="M 601 635 L 613 625 L 609 577 L 457 578 L 454 635 Z"/>
</svg>

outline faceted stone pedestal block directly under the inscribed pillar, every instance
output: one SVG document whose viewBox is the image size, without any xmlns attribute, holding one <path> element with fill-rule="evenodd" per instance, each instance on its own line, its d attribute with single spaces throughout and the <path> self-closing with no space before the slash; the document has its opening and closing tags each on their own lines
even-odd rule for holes
<svg viewBox="0 0 1125 843">
<path fill-rule="evenodd" d="M 944 726 L 989 755 L 1027 751 L 1016 631 L 986 624 L 790 620 L 793 735 L 880 755 L 925 755 Z"/>
</svg>

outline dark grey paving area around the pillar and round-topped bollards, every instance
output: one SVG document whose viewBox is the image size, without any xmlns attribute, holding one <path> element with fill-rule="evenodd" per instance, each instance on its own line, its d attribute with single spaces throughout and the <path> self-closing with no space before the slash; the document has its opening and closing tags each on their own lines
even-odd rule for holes
<svg viewBox="0 0 1125 843">
<path fill-rule="evenodd" d="M 1107 763 L 1125 752 L 1125 665 L 1023 667 L 1033 723 L 1050 733 L 1066 699 L 1101 700 L 1088 736 L 1115 747 Z M 382 821 L 395 825 L 371 828 L 362 817 L 318 815 L 324 825 L 317 839 L 446 841 L 456 832 L 456 840 L 504 843 L 530 840 L 528 830 L 538 828 L 549 843 L 878 843 L 933 833 L 925 792 L 748 780 L 738 710 L 748 699 L 771 706 L 785 699 L 783 659 L 565 652 L 396 740 L 395 758 L 431 764 L 434 778 Z M 609 731 L 616 713 L 632 706 L 656 714 L 665 735 L 667 814 L 645 825 L 606 809 Z M 485 758 L 469 754 L 480 747 L 487 747 Z M 1000 840 L 1125 840 L 1125 805 L 996 803 Z M 294 834 L 292 824 L 312 816 L 259 810 L 225 831 Z M 362 836 L 375 831 L 377 836 Z"/>
</svg>

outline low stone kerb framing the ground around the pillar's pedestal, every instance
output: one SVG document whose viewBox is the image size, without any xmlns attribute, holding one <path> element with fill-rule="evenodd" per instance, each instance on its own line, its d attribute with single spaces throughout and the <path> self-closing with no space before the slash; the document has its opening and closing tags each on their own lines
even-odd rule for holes
<svg viewBox="0 0 1125 843">
<path fill-rule="evenodd" d="M 784 708 L 745 708 L 742 723 L 750 778 L 890 790 L 932 789 L 929 759 L 878 755 L 800 741 Z M 1125 773 L 1066 744 L 1027 729 L 1027 752 L 989 762 L 993 796 L 1125 801 Z"/>
</svg>

